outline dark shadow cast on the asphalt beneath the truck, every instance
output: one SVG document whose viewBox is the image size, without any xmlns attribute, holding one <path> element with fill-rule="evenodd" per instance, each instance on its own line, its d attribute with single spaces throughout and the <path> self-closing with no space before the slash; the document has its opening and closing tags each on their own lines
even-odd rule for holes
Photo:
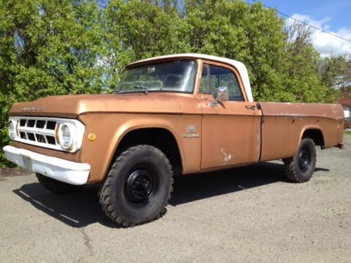
<svg viewBox="0 0 351 263">
<path fill-rule="evenodd" d="M 258 163 L 245 168 L 176 177 L 169 204 L 176 206 L 274 182 L 286 182 L 283 169 L 284 166 L 279 163 Z M 106 227 L 121 228 L 102 212 L 97 185 L 59 195 L 44 189 L 39 183 L 32 183 L 24 184 L 13 192 L 35 208 L 71 227 L 100 223 Z"/>
</svg>

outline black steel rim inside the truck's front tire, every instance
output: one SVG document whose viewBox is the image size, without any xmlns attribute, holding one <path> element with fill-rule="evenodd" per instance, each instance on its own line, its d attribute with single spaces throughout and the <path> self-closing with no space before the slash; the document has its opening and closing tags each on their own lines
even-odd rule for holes
<svg viewBox="0 0 351 263">
<path fill-rule="evenodd" d="M 157 194 L 157 174 L 152 168 L 137 168 L 128 176 L 125 195 L 134 205 L 147 205 Z"/>
</svg>

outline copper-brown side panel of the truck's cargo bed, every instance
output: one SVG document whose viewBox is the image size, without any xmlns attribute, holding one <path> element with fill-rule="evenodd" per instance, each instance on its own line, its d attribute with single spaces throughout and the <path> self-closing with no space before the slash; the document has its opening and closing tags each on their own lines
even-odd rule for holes
<svg viewBox="0 0 351 263">
<path fill-rule="evenodd" d="M 320 130 L 324 147 L 343 142 L 343 108 L 338 104 L 261 102 L 263 109 L 260 161 L 296 154 L 305 130 Z"/>
</svg>

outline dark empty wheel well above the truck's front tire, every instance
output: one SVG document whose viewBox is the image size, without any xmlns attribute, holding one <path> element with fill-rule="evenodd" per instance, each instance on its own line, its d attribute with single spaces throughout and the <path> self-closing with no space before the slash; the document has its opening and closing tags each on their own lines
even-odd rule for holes
<svg viewBox="0 0 351 263">
<path fill-rule="evenodd" d="M 139 144 L 152 145 L 160 149 L 166 154 L 168 160 L 171 163 L 173 172 L 181 173 L 183 171 L 182 159 L 178 143 L 173 134 L 164 128 L 141 128 L 137 130 L 131 130 L 129 133 L 124 135 L 121 142 L 114 153 L 112 163 L 114 160 L 129 147 L 133 147 Z"/>
</svg>

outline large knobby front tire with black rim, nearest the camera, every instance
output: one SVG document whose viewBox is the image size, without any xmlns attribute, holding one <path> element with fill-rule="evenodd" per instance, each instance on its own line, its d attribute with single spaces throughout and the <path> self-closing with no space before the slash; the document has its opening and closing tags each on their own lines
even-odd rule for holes
<svg viewBox="0 0 351 263">
<path fill-rule="evenodd" d="M 144 224 L 164 215 L 172 184 L 171 164 L 162 151 L 150 145 L 130 147 L 112 164 L 100 188 L 100 204 L 117 224 Z"/>
</svg>

